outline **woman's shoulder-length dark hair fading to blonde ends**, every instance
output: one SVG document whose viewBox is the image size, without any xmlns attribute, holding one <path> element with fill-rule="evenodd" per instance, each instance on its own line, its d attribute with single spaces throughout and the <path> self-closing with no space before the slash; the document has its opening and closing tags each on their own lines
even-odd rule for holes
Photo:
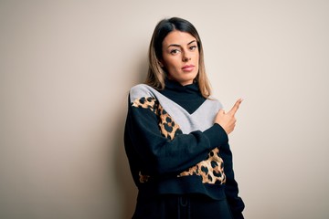
<svg viewBox="0 0 329 219">
<path fill-rule="evenodd" d="M 145 84 L 153 87 L 154 89 L 164 89 L 164 80 L 167 77 L 167 73 L 164 71 L 164 68 L 160 66 L 159 60 L 162 59 L 162 43 L 164 41 L 164 37 L 174 30 L 186 32 L 196 38 L 199 51 L 199 69 L 195 82 L 197 82 L 202 96 L 204 98 L 208 98 L 211 94 L 211 89 L 207 79 L 204 52 L 200 36 L 198 35 L 195 26 L 187 20 L 179 17 L 163 19 L 155 26 L 148 51 L 149 68 Z"/>
</svg>

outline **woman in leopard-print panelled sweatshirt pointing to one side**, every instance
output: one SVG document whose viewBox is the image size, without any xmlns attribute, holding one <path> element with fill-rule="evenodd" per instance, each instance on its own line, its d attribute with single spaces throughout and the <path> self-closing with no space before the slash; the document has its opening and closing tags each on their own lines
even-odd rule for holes
<svg viewBox="0 0 329 219">
<path fill-rule="evenodd" d="M 160 21 L 145 84 L 130 90 L 124 144 L 139 193 L 134 219 L 243 218 L 228 134 L 232 110 L 210 97 L 196 28 Z"/>
</svg>

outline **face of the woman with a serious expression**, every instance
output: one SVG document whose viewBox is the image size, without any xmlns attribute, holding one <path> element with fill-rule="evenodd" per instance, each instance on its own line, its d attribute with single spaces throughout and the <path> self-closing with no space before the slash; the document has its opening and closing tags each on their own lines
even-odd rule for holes
<svg viewBox="0 0 329 219">
<path fill-rule="evenodd" d="M 192 84 L 198 73 L 199 51 L 196 38 L 174 30 L 164 37 L 162 66 L 168 78 L 185 86 Z"/>
</svg>

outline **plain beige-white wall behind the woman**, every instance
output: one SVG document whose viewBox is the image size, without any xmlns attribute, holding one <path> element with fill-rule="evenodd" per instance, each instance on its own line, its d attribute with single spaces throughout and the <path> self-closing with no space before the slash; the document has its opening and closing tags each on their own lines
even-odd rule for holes
<svg viewBox="0 0 329 219">
<path fill-rule="evenodd" d="M 126 219 L 122 144 L 156 23 L 197 28 L 246 218 L 329 217 L 329 2 L 0 1 L 0 217 Z"/>
</svg>

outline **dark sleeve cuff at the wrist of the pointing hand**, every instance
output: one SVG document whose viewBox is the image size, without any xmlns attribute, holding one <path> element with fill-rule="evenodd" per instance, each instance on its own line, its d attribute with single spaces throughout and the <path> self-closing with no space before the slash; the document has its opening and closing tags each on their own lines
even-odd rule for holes
<svg viewBox="0 0 329 219">
<path fill-rule="evenodd" d="M 212 127 L 205 130 L 204 134 L 210 142 L 211 149 L 228 143 L 228 134 L 218 123 L 215 123 Z"/>
</svg>

